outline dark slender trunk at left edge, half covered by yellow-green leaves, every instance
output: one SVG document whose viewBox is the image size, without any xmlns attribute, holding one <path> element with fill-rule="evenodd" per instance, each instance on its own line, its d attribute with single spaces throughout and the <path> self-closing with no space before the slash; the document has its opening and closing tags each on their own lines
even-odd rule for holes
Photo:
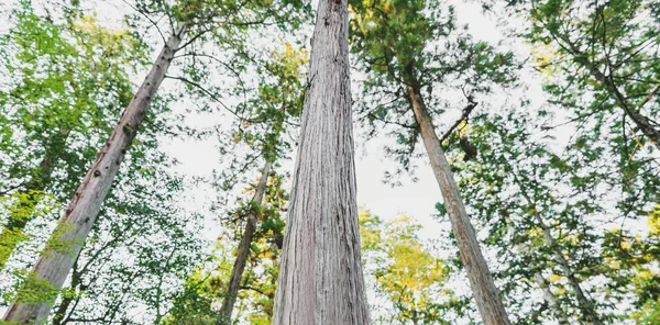
<svg viewBox="0 0 660 325">
<path fill-rule="evenodd" d="M 25 239 L 23 229 L 34 218 L 36 204 L 44 198 L 44 190 L 51 183 L 53 169 L 58 159 L 56 153 L 66 144 L 69 132 L 67 130 L 50 142 L 36 175 L 33 175 L 19 192 L 19 201 L 12 206 L 9 220 L 0 233 L 0 270 L 4 269 L 13 250 Z"/>
</svg>

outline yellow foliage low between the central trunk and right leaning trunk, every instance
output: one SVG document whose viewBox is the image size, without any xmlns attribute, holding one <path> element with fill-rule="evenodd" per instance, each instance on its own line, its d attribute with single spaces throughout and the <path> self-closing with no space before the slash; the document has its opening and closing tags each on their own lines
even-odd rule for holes
<svg viewBox="0 0 660 325">
<path fill-rule="evenodd" d="M 365 277 L 375 279 L 376 304 L 383 304 L 374 306 L 377 324 L 452 324 L 464 302 L 446 288 L 450 268 L 418 237 L 421 226 L 362 211 L 360 227 Z"/>
</svg>

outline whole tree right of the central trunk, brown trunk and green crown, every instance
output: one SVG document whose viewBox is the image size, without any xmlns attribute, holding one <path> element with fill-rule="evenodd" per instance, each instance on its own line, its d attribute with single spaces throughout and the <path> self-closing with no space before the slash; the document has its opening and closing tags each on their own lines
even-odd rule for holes
<svg viewBox="0 0 660 325">
<path fill-rule="evenodd" d="M 409 164 L 421 136 L 482 320 L 488 325 L 509 324 L 432 119 L 432 113 L 441 111 L 433 87 L 448 87 L 448 80 L 459 79 L 469 101 L 461 116 L 461 121 L 466 120 L 476 107 L 475 93 L 487 93 L 487 85 L 493 81 L 506 81 L 502 71 L 507 68 L 502 67 L 509 59 L 486 44 L 473 44 L 466 35 L 450 35 L 455 29 L 453 10 L 449 8 L 446 15 L 436 2 L 373 0 L 356 4 L 355 11 L 354 48 L 372 77 L 365 89 L 371 98 L 385 98 L 367 112 L 367 117 L 407 130 L 406 135 L 397 134 L 399 143 L 407 146 L 402 158 L 405 164 Z M 454 36 L 455 44 L 451 41 Z M 446 43 L 438 46 L 433 42 Z M 427 105 L 429 100 L 435 108 Z M 474 156 L 465 138 L 461 138 L 461 146 L 465 159 Z"/>
</svg>

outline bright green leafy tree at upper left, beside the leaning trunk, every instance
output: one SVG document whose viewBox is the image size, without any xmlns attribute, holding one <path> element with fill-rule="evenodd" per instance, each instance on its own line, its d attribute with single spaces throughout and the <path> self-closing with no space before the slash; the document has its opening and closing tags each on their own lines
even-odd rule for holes
<svg viewBox="0 0 660 325">
<path fill-rule="evenodd" d="M 130 100 L 125 91 L 131 82 L 123 63 L 144 54 L 128 33 L 118 33 L 110 44 L 101 44 L 108 31 L 76 8 L 64 12 L 67 23 L 33 11 L 29 3 L 12 11 L 16 25 L 0 40 L 0 56 L 7 59 L 3 66 L 23 76 L 0 91 L 0 124 L 7 126 L 2 133 L 6 138 L 14 137 L 0 145 L 4 159 L 0 173 L 6 176 L 0 188 L 15 184 L 11 187 L 15 202 L 9 206 L 0 232 L 0 270 L 18 245 L 29 238 L 23 229 L 40 215 L 37 208 L 43 199 L 67 198 L 80 183 L 80 175 L 70 171 L 87 167 L 87 158 L 94 158 L 87 153 L 98 149 L 102 141 L 97 142 L 97 135 L 107 136 L 111 128 L 108 122 L 117 117 L 117 107 L 124 107 Z M 75 23 L 81 18 L 86 19 L 86 27 Z M 47 45 L 35 48 L 33 42 L 25 42 L 46 34 Z M 92 55 L 92 48 L 99 47 L 102 55 Z M 109 48 L 113 48 L 113 55 Z M 43 74 L 34 74 L 35 70 Z M 116 87 L 99 91 L 101 83 Z M 79 144 L 74 145 L 75 138 L 95 141 L 76 147 Z M 85 158 L 70 159 L 81 153 Z"/>
</svg>

